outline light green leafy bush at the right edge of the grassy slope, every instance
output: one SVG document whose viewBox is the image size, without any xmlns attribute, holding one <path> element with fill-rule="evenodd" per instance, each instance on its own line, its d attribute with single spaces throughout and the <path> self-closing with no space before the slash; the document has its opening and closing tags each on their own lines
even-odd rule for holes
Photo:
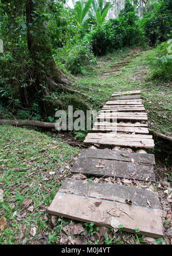
<svg viewBox="0 0 172 256">
<path fill-rule="evenodd" d="M 148 64 L 151 67 L 153 78 L 170 80 L 172 77 L 172 40 L 162 42 L 158 45 L 151 56 L 148 57 Z"/>
</svg>

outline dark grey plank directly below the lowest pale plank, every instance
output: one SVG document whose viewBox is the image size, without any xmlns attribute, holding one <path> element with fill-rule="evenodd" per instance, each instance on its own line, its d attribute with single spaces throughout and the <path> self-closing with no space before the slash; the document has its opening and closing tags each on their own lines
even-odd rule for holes
<svg viewBox="0 0 172 256">
<path fill-rule="evenodd" d="M 116 160 L 124 162 L 137 162 L 138 164 L 155 164 L 154 154 L 147 153 L 129 153 L 122 150 L 110 150 L 110 149 L 84 149 L 80 154 L 88 158 L 99 158 L 104 160 Z"/>
</svg>

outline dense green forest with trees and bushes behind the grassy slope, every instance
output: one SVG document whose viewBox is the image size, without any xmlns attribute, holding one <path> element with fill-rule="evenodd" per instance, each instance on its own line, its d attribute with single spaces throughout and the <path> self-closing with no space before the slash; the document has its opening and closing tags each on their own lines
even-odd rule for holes
<svg viewBox="0 0 172 256">
<path fill-rule="evenodd" d="M 48 121 L 61 94 L 81 96 L 76 74 L 130 46 L 158 45 L 153 76 L 169 80 L 171 12 L 171 0 L 1 0 L 0 118 Z"/>
</svg>

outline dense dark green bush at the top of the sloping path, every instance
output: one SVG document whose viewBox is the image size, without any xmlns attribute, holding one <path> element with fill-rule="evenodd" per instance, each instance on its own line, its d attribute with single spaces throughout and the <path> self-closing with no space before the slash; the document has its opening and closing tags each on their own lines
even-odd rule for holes
<svg viewBox="0 0 172 256">
<path fill-rule="evenodd" d="M 143 45 L 145 41 L 134 7 L 129 1 L 120 11 L 119 18 L 110 19 L 105 24 L 97 26 L 87 35 L 87 38 L 93 53 L 98 56 L 124 46 Z"/>
</svg>

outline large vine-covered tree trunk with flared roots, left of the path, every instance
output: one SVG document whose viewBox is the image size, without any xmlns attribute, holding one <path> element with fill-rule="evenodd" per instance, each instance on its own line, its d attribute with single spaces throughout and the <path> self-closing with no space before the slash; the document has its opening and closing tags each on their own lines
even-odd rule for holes
<svg viewBox="0 0 172 256">
<path fill-rule="evenodd" d="M 33 73 L 36 79 L 34 87 L 35 90 L 40 90 L 42 85 L 48 84 L 48 87 L 46 86 L 46 92 L 49 92 L 56 91 L 56 87 L 60 87 L 60 84 L 71 84 L 71 80 L 57 68 L 53 60 L 46 34 L 46 22 L 41 14 L 44 9 L 44 2 L 26 0 L 28 49 L 30 57 L 34 62 Z"/>
</svg>

